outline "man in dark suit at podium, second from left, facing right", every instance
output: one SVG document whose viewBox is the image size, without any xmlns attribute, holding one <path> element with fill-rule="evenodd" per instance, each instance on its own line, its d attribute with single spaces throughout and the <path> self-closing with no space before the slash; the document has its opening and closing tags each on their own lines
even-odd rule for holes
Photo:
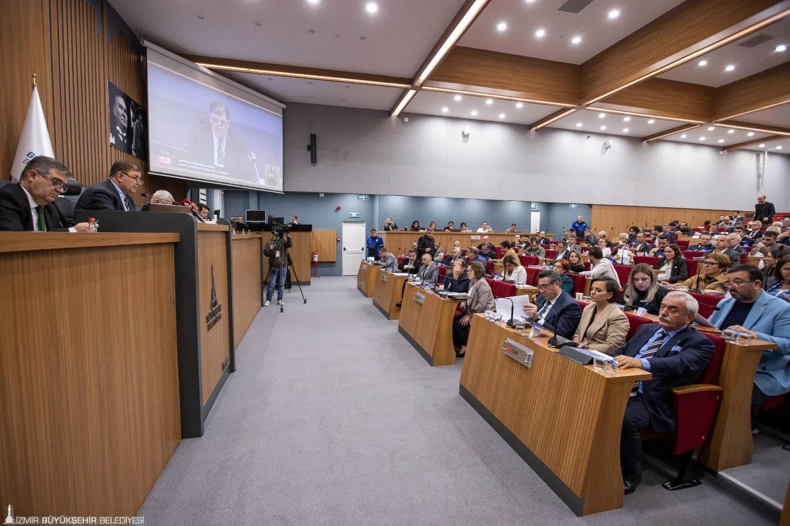
<svg viewBox="0 0 790 526">
<path fill-rule="evenodd" d="M 143 183 L 142 172 L 136 164 L 126 160 L 112 163 L 110 178 L 88 186 L 77 201 L 75 210 L 115 210 L 137 212 L 131 194 Z"/>
</svg>

